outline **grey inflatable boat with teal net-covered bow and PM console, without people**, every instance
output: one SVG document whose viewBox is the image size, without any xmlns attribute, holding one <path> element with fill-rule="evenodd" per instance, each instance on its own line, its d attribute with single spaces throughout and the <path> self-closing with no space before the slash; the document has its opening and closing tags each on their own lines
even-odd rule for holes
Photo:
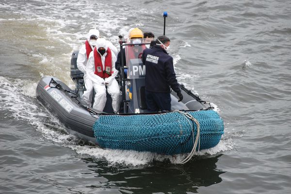
<svg viewBox="0 0 291 194">
<path fill-rule="evenodd" d="M 121 41 L 120 47 L 141 47 Z M 142 48 L 142 47 L 141 47 Z M 144 48 L 144 47 L 143 47 Z M 83 73 L 77 68 L 78 51 L 71 57 L 71 78 L 75 88 L 44 76 L 36 88 L 37 99 L 65 125 L 68 131 L 102 148 L 148 151 L 175 155 L 216 146 L 224 124 L 209 102 L 180 85 L 183 100 L 171 92 L 172 111 L 148 112 L 145 99 L 145 66 L 140 58 L 126 55 L 116 80 L 120 86 L 120 110 L 113 113 L 112 99 L 102 113 L 81 100 L 85 90 Z"/>
</svg>

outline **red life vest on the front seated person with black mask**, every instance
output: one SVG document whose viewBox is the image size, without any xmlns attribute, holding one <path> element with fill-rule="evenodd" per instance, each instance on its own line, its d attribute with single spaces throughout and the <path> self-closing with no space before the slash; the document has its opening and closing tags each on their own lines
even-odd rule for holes
<svg viewBox="0 0 291 194">
<path fill-rule="evenodd" d="M 97 52 L 97 48 L 94 48 L 94 63 L 95 63 L 95 74 L 100 78 L 108 78 L 112 75 L 112 56 L 111 50 L 108 48 L 105 57 L 105 70 L 103 70 L 102 60 L 99 52 Z"/>
</svg>

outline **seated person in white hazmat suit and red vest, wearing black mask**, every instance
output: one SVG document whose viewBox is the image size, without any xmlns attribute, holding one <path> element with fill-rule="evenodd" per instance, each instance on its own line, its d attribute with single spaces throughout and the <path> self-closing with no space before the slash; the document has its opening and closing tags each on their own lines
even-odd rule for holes
<svg viewBox="0 0 291 194">
<path fill-rule="evenodd" d="M 118 112 L 120 90 L 115 76 L 118 71 L 115 69 L 116 56 L 108 47 L 104 38 L 98 38 L 96 47 L 90 53 L 86 73 L 91 79 L 96 92 L 93 108 L 102 112 L 106 103 L 107 92 L 112 98 L 114 113 Z M 105 87 L 106 86 L 106 87 Z"/>
</svg>

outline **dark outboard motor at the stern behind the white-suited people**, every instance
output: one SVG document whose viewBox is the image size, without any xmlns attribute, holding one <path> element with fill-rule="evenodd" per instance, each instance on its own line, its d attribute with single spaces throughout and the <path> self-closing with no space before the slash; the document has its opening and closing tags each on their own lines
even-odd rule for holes
<svg viewBox="0 0 291 194">
<path fill-rule="evenodd" d="M 74 81 L 76 89 L 75 92 L 81 96 L 83 94 L 83 89 L 84 89 L 84 80 L 83 76 L 84 73 L 81 72 L 78 67 L 77 67 L 77 57 L 79 54 L 79 50 L 75 50 L 72 53 L 71 57 L 71 79 Z"/>
</svg>

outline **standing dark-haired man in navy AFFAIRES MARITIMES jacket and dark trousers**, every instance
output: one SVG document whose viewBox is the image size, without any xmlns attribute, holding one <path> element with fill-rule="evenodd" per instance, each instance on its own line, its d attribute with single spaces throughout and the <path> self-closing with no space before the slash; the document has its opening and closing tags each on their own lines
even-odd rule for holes
<svg viewBox="0 0 291 194">
<path fill-rule="evenodd" d="M 146 105 L 152 112 L 171 111 L 171 89 L 183 99 L 181 89 L 176 79 L 173 57 L 167 49 L 170 39 L 166 36 L 159 36 L 156 45 L 151 49 L 145 49 L 142 55 L 143 64 L 146 65 Z"/>
</svg>

